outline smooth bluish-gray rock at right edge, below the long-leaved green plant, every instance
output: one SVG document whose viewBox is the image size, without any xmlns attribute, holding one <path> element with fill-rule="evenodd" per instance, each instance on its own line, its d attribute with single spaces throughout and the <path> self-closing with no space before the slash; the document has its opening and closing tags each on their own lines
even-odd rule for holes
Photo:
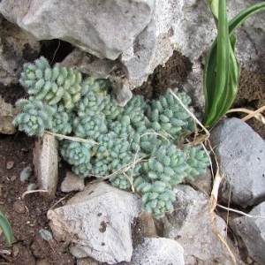
<svg viewBox="0 0 265 265">
<path fill-rule="evenodd" d="M 210 141 L 215 148 L 220 173 L 224 174 L 220 197 L 242 206 L 265 200 L 265 143 L 239 118 L 219 122 Z"/>
</svg>

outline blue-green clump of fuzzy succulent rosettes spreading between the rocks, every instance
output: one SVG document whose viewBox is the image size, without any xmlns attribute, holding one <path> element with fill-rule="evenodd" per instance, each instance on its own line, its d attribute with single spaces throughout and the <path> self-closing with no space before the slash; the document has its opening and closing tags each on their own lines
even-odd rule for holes
<svg viewBox="0 0 265 265">
<path fill-rule="evenodd" d="M 208 166 L 201 146 L 177 148 L 180 136 L 193 132 L 194 124 L 169 91 L 150 102 L 133 96 L 122 108 L 102 79 L 82 80 L 71 68 L 51 68 L 44 57 L 24 65 L 20 83 L 29 98 L 17 102 L 21 113 L 13 124 L 19 130 L 92 140 L 59 138 L 60 153 L 73 172 L 80 178 L 110 178 L 113 186 L 139 193 L 142 209 L 156 218 L 173 211 L 173 186 Z M 193 111 L 186 94 L 178 97 Z"/>
</svg>

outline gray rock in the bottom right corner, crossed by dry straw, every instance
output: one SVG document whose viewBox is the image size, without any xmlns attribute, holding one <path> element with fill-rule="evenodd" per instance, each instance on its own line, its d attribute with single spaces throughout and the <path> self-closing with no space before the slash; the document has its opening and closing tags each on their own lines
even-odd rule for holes
<svg viewBox="0 0 265 265">
<path fill-rule="evenodd" d="M 249 215 L 265 217 L 265 201 L 255 207 Z M 259 264 L 265 264 L 265 219 L 246 216 L 233 219 L 236 233 L 244 241 L 248 255 Z"/>
</svg>

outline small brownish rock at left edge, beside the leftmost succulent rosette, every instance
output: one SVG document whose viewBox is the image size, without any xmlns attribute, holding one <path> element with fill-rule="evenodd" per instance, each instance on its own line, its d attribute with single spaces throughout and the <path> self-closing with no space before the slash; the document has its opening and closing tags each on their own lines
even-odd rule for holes
<svg viewBox="0 0 265 265">
<path fill-rule="evenodd" d="M 17 132 L 15 126 L 12 125 L 12 120 L 18 112 L 11 104 L 4 102 L 0 95 L 0 133 L 13 134 Z"/>
</svg>

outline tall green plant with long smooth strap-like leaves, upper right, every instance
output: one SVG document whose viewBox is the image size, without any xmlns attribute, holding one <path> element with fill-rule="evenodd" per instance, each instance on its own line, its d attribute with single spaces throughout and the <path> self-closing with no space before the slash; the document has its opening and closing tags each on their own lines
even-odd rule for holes
<svg viewBox="0 0 265 265">
<path fill-rule="evenodd" d="M 247 18 L 265 10 L 265 2 L 241 11 L 228 22 L 226 1 L 208 0 L 216 22 L 217 36 L 204 67 L 205 125 L 212 127 L 231 108 L 238 93 L 240 65 L 236 57 L 237 28 Z"/>
</svg>

